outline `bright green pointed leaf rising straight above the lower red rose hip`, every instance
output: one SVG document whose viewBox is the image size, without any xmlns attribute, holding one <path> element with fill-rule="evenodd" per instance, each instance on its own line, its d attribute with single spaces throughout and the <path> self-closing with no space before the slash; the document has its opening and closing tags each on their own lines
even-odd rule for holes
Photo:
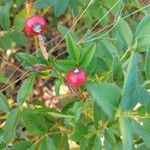
<svg viewBox="0 0 150 150">
<path fill-rule="evenodd" d="M 80 49 L 73 40 L 73 38 L 68 34 L 67 36 L 67 51 L 69 55 L 76 61 L 78 62 L 80 58 Z"/>
</svg>

